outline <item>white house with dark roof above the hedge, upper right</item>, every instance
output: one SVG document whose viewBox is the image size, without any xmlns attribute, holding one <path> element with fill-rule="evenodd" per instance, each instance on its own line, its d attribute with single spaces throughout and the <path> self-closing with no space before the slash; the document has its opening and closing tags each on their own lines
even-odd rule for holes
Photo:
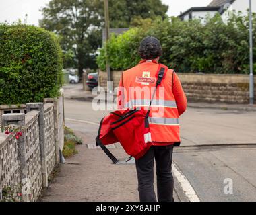
<svg viewBox="0 0 256 215">
<path fill-rule="evenodd" d="M 213 0 L 207 7 L 191 7 L 178 17 L 182 20 L 203 19 L 220 13 L 222 18 L 225 18 L 231 11 L 241 11 L 243 15 L 246 15 L 247 9 L 249 9 L 249 0 Z M 252 11 L 256 13 L 256 3 L 254 1 L 252 1 Z"/>
</svg>

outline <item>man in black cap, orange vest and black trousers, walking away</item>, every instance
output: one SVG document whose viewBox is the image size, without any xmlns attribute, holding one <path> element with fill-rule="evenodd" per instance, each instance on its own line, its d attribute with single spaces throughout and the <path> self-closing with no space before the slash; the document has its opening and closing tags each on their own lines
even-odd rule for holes
<svg viewBox="0 0 256 215">
<path fill-rule="evenodd" d="M 141 62 L 122 73 L 119 87 L 129 92 L 124 99 L 125 103 L 133 107 L 148 107 L 151 99 L 145 95 L 134 95 L 130 89 L 139 87 L 143 88 L 143 91 L 149 89 L 152 92 L 150 89 L 155 86 L 158 76 L 158 60 L 162 56 L 159 40 L 153 36 L 144 38 L 139 47 L 139 54 Z M 179 116 L 187 108 L 187 99 L 181 82 L 172 69 L 168 69 L 155 95 L 152 94 L 154 97 L 148 118 L 152 146 L 143 157 L 136 160 L 139 199 L 141 202 L 157 200 L 153 185 L 155 159 L 158 201 L 172 202 L 172 151 L 174 146 L 180 144 Z"/>
</svg>

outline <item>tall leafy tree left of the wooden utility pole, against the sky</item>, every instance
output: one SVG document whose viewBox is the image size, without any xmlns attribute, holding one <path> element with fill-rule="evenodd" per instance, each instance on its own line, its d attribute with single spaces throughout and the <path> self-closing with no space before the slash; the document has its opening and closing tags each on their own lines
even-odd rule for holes
<svg viewBox="0 0 256 215">
<path fill-rule="evenodd" d="M 73 52 L 80 76 L 84 68 L 96 66 L 92 59 L 101 42 L 101 4 L 100 0 L 51 0 L 42 9 L 40 26 L 61 36 L 63 51 Z"/>
</svg>

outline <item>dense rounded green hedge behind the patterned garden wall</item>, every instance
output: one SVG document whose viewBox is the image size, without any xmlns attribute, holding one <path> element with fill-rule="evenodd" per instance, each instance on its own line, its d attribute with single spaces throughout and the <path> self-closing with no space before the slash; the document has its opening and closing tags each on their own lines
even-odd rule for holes
<svg viewBox="0 0 256 215">
<path fill-rule="evenodd" d="M 62 65 L 55 34 L 20 23 L 0 24 L 0 104 L 58 96 Z"/>
</svg>

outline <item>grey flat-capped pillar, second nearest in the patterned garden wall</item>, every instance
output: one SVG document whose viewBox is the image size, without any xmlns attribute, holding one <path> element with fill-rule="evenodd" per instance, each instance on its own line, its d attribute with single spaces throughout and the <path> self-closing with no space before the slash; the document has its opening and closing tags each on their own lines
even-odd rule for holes
<svg viewBox="0 0 256 215">
<path fill-rule="evenodd" d="M 42 186 L 48 187 L 48 173 L 46 163 L 46 143 L 44 132 L 44 103 L 27 103 L 27 112 L 37 110 L 39 112 L 39 140 L 40 140 L 40 154 L 42 164 Z"/>
</svg>

